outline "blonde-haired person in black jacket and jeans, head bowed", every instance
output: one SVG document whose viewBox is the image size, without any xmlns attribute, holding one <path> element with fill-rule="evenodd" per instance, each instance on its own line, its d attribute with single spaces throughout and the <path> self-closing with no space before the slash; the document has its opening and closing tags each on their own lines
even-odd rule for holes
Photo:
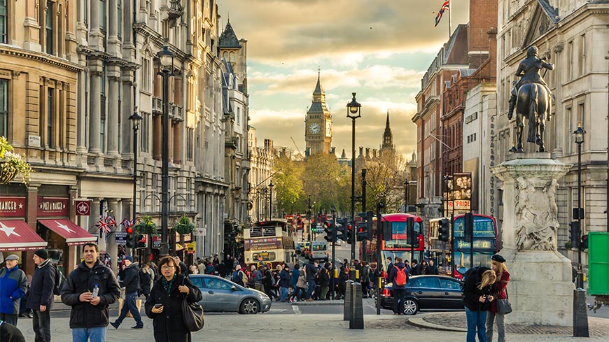
<svg viewBox="0 0 609 342">
<path fill-rule="evenodd" d="M 491 294 L 493 283 L 495 283 L 495 271 L 488 267 L 475 267 L 465 273 L 465 284 L 463 294 L 465 298 L 465 316 L 468 319 L 467 342 L 476 341 L 476 333 L 479 342 L 486 342 L 486 313 L 491 302 L 495 299 Z"/>
</svg>

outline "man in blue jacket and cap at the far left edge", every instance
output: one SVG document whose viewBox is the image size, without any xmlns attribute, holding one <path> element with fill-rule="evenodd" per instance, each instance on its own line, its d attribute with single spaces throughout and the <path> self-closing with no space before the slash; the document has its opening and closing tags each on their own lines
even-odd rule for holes
<svg viewBox="0 0 609 342">
<path fill-rule="evenodd" d="M 19 269 L 19 257 L 11 254 L 4 259 L 6 267 L 0 270 L 0 320 L 17 325 L 21 297 L 27 290 L 27 278 Z"/>
</svg>

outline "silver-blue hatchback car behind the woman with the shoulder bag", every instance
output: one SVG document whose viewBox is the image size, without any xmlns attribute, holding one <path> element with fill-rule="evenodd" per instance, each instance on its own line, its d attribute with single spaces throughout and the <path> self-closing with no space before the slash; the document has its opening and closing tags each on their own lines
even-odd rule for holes
<svg viewBox="0 0 609 342">
<path fill-rule="evenodd" d="M 191 274 L 189 278 L 203 294 L 199 304 L 204 311 L 265 313 L 271 309 L 271 299 L 260 291 L 209 274 Z"/>
</svg>

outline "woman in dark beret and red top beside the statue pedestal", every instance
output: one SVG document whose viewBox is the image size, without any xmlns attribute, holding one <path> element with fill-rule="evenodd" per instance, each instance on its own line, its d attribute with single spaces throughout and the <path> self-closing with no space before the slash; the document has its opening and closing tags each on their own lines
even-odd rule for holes
<svg viewBox="0 0 609 342">
<path fill-rule="evenodd" d="M 491 302 L 489 313 L 486 315 L 486 342 L 493 341 L 493 324 L 497 322 L 498 342 L 505 342 L 505 315 L 512 312 L 507 301 L 507 283 L 510 283 L 510 273 L 505 266 L 505 258 L 496 254 L 491 257 L 491 268 L 497 279 L 493 284 L 492 294 L 496 300 Z"/>
</svg>

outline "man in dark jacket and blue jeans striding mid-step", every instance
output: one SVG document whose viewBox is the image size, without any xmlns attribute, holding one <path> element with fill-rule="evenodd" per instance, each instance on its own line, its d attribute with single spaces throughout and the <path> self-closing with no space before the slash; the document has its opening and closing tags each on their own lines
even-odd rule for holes
<svg viewBox="0 0 609 342">
<path fill-rule="evenodd" d="M 144 323 L 141 322 L 141 315 L 137 308 L 137 292 L 141 288 L 139 283 L 139 267 L 137 263 L 133 262 L 131 255 L 125 257 L 125 266 L 125 279 L 121 281 L 123 287 L 125 287 L 125 302 L 123 302 L 123 308 L 120 309 L 120 315 L 110 325 L 118 329 L 120 323 L 127 317 L 127 311 L 130 311 L 135 320 L 135 327 L 132 327 L 132 329 L 142 329 L 144 328 Z"/>
</svg>

